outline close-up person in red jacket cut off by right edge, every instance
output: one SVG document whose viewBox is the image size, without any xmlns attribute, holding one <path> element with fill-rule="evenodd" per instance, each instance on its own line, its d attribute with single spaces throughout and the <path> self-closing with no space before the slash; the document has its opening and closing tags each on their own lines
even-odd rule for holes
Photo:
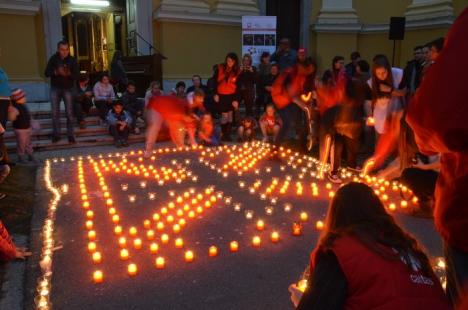
<svg viewBox="0 0 468 310">
<path fill-rule="evenodd" d="M 434 221 L 444 241 L 447 295 L 455 305 L 468 286 L 468 9 L 456 19 L 444 49 L 408 108 L 407 121 L 425 155 L 439 154 Z"/>
</svg>

